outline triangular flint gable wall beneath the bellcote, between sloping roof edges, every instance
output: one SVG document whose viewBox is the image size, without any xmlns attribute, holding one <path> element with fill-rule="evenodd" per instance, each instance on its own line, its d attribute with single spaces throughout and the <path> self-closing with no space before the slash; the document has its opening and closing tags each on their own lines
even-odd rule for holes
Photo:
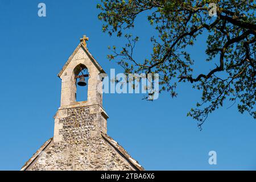
<svg viewBox="0 0 256 182">
<path fill-rule="evenodd" d="M 54 143 L 42 152 L 32 171 L 48 170 L 134 170 L 103 138 L 80 144 Z"/>
</svg>

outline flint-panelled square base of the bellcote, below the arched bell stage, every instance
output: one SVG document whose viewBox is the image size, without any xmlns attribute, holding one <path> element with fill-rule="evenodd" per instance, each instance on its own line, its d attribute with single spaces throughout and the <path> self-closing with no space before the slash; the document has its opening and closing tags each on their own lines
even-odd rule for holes
<svg viewBox="0 0 256 182">
<path fill-rule="evenodd" d="M 59 109 L 55 116 L 54 141 L 81 143 L 106 133 L 106 117 L 100 105 L 72 106 Z"/>
</svg>

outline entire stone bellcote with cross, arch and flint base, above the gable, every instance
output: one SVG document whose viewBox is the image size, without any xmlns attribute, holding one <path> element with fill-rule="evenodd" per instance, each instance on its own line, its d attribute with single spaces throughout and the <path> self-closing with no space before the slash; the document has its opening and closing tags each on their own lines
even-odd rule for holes
<svg viewBox="0 0 256 182">
<path fill-rule="evenodd" d="M 54 142 L 82 142 L 106 133 L 108 115 L 102 107 L 102 80 L 105 73 L 88 51 L 84 36 L 57 76 L 61 79 L 60 108 L 55 115 Z M 88 70 L 87 100 L 76 101 L 76 76 Z M 84 93 L 86 94 L 86 93 Z"/>
</svg>

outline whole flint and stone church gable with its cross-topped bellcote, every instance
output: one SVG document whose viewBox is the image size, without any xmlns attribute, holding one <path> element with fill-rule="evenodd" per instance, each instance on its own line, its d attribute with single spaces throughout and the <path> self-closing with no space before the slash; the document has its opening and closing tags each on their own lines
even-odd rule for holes
<svg viewBox="0 0 256 182">
<path fill-rule="evenodd" d="M 102 80 L 105 73 L 80 39 L 57 76 L 61 79 L 60 107 L 55 114 L 53 138 L 22 167 L 29 170 L 144 170 L 107 133 L 108 114 L 102 107 Z M 76 101 L 77 78 L 88 70 L 86 101 Z"/>
</svg>

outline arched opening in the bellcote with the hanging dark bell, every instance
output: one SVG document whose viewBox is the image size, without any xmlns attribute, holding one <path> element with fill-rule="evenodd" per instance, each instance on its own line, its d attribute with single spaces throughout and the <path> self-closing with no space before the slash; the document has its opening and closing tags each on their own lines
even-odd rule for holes
<svg viewBox="0 0 256 182">
<path fill-rule="evenodd" d="M 84 64 L 79 64 L 74 69 L 75 84 L 76 84 L 76 102 L 88 100 L 88 80 L 89 71 Z M 82 78 L 84 77 L 84 79 Z"/>
</svg>

